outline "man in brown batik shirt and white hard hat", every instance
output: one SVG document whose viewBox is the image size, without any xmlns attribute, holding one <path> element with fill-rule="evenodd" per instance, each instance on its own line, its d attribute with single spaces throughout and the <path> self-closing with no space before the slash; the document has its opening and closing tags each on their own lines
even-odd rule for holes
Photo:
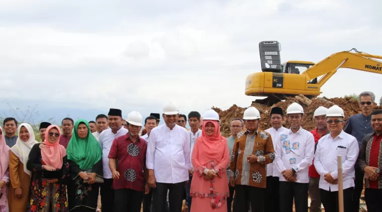
<svg viewBox="0 0 382 212">
<path fill-rule="evenodd" d="M 266 165 L 274 159 L 272 138 L 259 129 L 260 113 L 254 107 L 245 110 L 246 131 L 238 133 L 230 162 L 230 185 L 235 186 L 233 211 L 264 211 Z"/>
</svg>

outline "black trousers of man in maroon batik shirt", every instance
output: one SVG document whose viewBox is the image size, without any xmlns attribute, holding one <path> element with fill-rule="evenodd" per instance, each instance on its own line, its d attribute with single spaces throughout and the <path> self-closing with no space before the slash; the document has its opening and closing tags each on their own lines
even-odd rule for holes
<svg viewBox="0 0 382 212">
<path fill-rule="evenodd" d="M 115 212 L 140 212 L 143 200 L 143 191 L 133 189 L 116 189 L 114 199 Z"/>
</svg>

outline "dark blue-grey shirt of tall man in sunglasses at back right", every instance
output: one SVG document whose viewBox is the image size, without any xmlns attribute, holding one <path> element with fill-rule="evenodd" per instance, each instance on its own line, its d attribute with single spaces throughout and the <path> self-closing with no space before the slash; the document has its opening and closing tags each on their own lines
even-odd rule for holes
<svg viewBox="0 0 382 212">
<path fill-rule="evenodd" d="M 363 114 L 356 114 L 349 117 L 345 124 L 344 131 L 357 139 L 358 147 L 360 148 L 363 137 L 365 137 L 366 134 L 373 133 L 373 129 L 371 128 L 371 115 L 365 117 Z"/>
</svg>

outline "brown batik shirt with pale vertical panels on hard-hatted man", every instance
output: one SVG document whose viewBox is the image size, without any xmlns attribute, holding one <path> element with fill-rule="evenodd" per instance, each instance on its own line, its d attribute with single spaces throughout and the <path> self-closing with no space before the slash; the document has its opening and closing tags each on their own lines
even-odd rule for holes
<svg viewBox="0 0 382 212">
<path fill-rule="evenodd" d="M 253 154 L 259 162 L 249 163 L 247 156 Z M 272 138 L 269 133 L 258 130 L 252 136 L 240 132 L 235 140 L 229 177 L 235 177 L 235 184 L 266 187 L 266 165 L 274 160 Z"/>
</svg>

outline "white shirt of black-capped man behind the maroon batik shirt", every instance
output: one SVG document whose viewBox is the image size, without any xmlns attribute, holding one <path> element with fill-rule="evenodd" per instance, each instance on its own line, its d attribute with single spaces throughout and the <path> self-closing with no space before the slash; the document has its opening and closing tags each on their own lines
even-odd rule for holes
<svg viewBox="0 0 382 212">
<path fill-rule="evenodd" d="M 112 171 L 110 171 L 109 167 L 109 153 L 110 148 L 112 147 L 113 141 L 115 138 L 119 136 L 126 135 L 127 130 L 122 126 L 121 129 L 117 131 L 116 134 L 113 133 L 112 129 L 108 128 L 100 134 L 100 138 L 98 143 L 101 146 L 102 149 L 102 165 L 104 169 L 104 178 L 105 179 L 112 179 Z"/>
</svg>

